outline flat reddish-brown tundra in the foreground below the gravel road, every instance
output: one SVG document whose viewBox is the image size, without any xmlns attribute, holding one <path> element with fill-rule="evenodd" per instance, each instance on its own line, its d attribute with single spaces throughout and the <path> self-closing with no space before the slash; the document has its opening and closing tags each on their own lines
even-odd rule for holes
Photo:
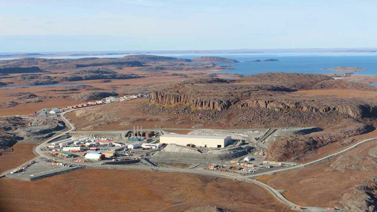
<svg viewBox="0 0 377 212">
<path fill-rule="evenodd" d="M 177 173 L 85 169 L 34 182 L 0 179 L 0 187 L 0 211 L 9 212 L 290 211 L 257 185 Z"/>
</svg>

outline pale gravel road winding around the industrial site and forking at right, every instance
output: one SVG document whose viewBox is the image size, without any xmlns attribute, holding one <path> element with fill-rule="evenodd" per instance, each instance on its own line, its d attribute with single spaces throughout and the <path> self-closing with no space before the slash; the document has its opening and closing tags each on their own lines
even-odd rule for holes
<svg viewBox="0 0 377 212">
<path fill-rule="evenodd" d="M 54 139 L 56 139 L 58 137 L 61 137 L 63 135 L 68 134 L 71 131 L 75 131 L 76 130 L 75 125 L 73 123 L 71 123 L 64 116 L 65 114 L 70 113 L 70 112 L 75 111 L 75 110 L 79 110 L 79 109 L 69 110 L 69 111 L 66 111 L 66 112 L 63 112 L 63 113 L 60 114 L 60 116 L 63 119 L 63 121 L 66 122 L 67 126 L 69 126 L 69 129 L 66 130 L 66 131 L 64 131 L 64 132 L 62 132 L 62 133 L 60 133 L 60 134 L 58 134 L 58 135 L 55 135 L 55 136 L 49 138 L 48 140 L 46 140 L 43 143 L 39 144 L 38 146 L 34 147 L 33 152 L 34 152 L 35 155 L 37 155 L 37 157 L 43 156 L 43 157 L 46 157 L 46 158 L 51 158 L 49 155 L 47 155 L 45 152 L 43 152 L 41 150 L 41 147 L 46 146 L 47 143 L 49 143 L 50 141 L 52 141 L 52 140 L 54 140 Z M 159 130 L 171 130 L 171 129 L 159 129 Z M 181 130 L 181 129 L 177 129 L 177 130 Z M 327 162 L 327 161 L 331 160 L 332 158 L 334 158 L 334 157 L 336 157 L 336 156 L 338 156 L 340 154 L 343 154 L 346 151 L 349 151 L 351 149 L 354 149 L 355 147 L 360 146 L 363 143 L 374 141 L 376 139 L 377 138 L 362 139 L 362 140 L 356 142 L 355 144 L 353 144 L 353 145 L 351 145 L 349 147 L 345 147 L 342 150 L 339 150 L 339 151 L 337 151 L 335 153 L 332 153 L 330 155 L 327 155 L 327 156 L 325 156 L 323 158 L 320 158 L 320 159 L 317 159 L 315 161 L 312 161 L 312 162 L 309 162 L 309 163 L 304 163 L 304 164 L 299 164 L 299 165 L 295 165 L 295 166 L 290 166 L 290 167 L 282 168 L 282 169 L 279 169 L 279 170 L 274 170 L 274 171 L 268 171 L 268 172 L 263 172 L 263 173 L 259 173 L 259 174 L 254 174 L 252 176 L 235 176 L 235 175 L 232 175 L 232 174 L 228 174 L 226 172 L 215 172 L 215 171 L 207 171 L 207 170 L 171 168 L 171 167 L 143 166 L 143 165 L 127 165 L 127 166 L 125 166 L 125 165 L 94 165 L 94 164 L 85 164 L 85 166 L 87 166 L 87 168 L 102 168 L 102 169 L 104 169 L 104 168 L 105 169 L 112 168 L 112 169 L 127 169 L 127 170 L 148 170 L 148 171 L 161 171 L 161 172 L 190 173 L 190 174 L 199 174 L 199 175 L 210 175 L 210 176 L 229 178 L 229 179 L 237 179 L 237 180 L 240 180 L 240 181 L 254 183 L 254 184 L 257 184 L 259 186 L 262 186 L 265 190 L 267 190 L 269 193 L 271 193 L 272 196 L 274 196 L 280 202 L 282 202 L 283 204 L 291 207 L 292 210 L 308 211 L 308 212 L 325 212 L 325 211 L 328 211 L 328 210 L 326 210 L 324 208 L 320 208 L 320 207 L 304 207 L 304 206 L 302 206 L 301 210 L 295 209 L 296 206 L 298 206 L 298 205 L 295 204 L 295 203 L 293 203 L 293 202 L 291 202 L 291 201 L 289 201 L 288 199 L 286 199 L 279 191 L 277 191 L 276 189 L 274 189 L 273 187 L 271 187 L 271 186 L 269 186 L 267 184 L 264 184 L 264 183 L 262 183 L 262 182 L 260 182 L 258 180 L 252 179 L 252 178 L 254 178 L 256 176 L 261 176 L 261 175 L 275 174 L 277 172 L 283 172 L 283 171 L 301 169 L 301 168 L 304 168 L 304 167 L 307 167 L 307 166 L 311 166 L 311 165 L 315 165 L 315 164 L 318 164 L 318 163 L 324 163 L 324 162 Z M 33 159 L 33 160 L 35 160 L 35 159 Z M 26 162 L 26 163 L 29 163 L 29 162 Z M 24 164 L 26 164 L 26 163 L 24 163 Z M 69 162 L 69 163 L 72 163 L 72 162 Z M 21 166 L 23 166 L 23 165 L 21 165 Z M 8 171 L 2 173 L 0 175 L 0 177 L 4 177 L 5 174 L 9 173 L 10 171 L 11 170 L 8 170 Z M 340 211 L 340 210 L 337 210 L 337 211 Z"/>
</svg>

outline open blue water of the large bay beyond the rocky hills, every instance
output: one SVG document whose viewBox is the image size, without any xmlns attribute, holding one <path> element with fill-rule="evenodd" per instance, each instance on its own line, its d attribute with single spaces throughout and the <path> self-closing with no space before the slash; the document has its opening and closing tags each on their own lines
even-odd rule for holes
<svg viewBox="0 0 377 212">
<path fill-rule="evenodd" d="M 192 59 L 205 55 L 176 55 Z M 227 57 L 241 63 L 230 63 L 232 70 L 221 72 L 243 75 L 265 72 L 329 74 L 339 71 L 321 70 L 338 66 L 368 69 L 355 72 L 355 75 L 377 75 L 377 53 L 256 53 L 256 54 L 218 54 L 211 56 Z M 271 62 L 245 62 L 253 60 L 278 59 Z"/>
</svg>

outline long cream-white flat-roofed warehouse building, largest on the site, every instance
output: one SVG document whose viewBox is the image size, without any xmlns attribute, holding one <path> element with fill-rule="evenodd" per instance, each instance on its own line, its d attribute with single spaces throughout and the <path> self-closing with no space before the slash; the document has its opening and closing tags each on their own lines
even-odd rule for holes
<svg viewBox="0 0 377 212">
<path fill-rule="evenodd" d="M 193 144 L 199 147 L 226 147 L 230 143 L 230 136 L 213 135 L 183 135 L 183 134 L 164 134 L 160 136 L 160 143 L 179 144 L 186 146 Z"/>
</svg>

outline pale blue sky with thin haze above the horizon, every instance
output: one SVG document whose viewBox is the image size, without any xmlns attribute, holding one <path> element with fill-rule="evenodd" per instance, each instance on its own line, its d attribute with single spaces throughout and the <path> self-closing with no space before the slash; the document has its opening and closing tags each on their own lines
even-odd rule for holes
<svg viewBox="0 0 377 212">
<path fill-rule="evenodd" d="M 377 0 L 0 0 L 0 52 L 376 48 Z"/>
</svg>

